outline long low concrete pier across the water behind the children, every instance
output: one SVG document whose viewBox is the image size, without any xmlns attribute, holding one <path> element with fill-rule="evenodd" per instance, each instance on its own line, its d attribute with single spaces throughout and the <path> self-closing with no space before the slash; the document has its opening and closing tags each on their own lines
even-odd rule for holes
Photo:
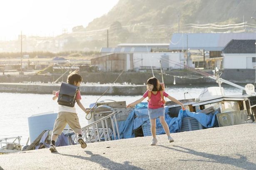
<svg viewBox="0 0 256 170">
<path fill-rule="evenodd" d="M 109 90 L 107 90 L 109 88 Z M 52 94 L 52 90 L 59 90 L 60 84 L 40 83 L 0 83 L 0 92 L 19 92 L 35 94 Z M 146 85 L 110 85 L 93 84 L 81 85 L 82 95 L 142 95 L 146 90 Z"/>
</svg>

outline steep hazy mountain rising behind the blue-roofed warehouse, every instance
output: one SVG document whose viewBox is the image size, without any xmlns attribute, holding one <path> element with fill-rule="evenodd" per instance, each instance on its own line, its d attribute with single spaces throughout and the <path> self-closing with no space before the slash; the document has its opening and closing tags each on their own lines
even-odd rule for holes
<svg viewBox="0 0 256 170">
<path fill-rule="evenodd" d="M 256 24 L 251 19 L 256 17 L 255 6 L 255 0 L 119 0 L 112 10 L 94 19 L 83 31 L 90 32 L 92 37 L 105 42 L 109 29 L 110 46 L 119 43 L 168 43 L 171 34 L 178 30 L 236 30 L 195 29 L 185 27 L 185 24 L 224 25 L 244 21 Z"/>
</svg>

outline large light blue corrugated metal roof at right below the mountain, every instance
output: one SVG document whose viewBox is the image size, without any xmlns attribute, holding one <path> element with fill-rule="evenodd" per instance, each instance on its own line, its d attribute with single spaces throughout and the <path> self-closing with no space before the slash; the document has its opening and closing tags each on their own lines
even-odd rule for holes
<svg viewBox="0 0 256 170">
<path fill-rule="evenodd" d="M 231 39 L 256 39 L 256 33 L 191 33 L 173 34 L 170 50 L 204 49 L 206 51 L 222 51 Z"/>
</svg>

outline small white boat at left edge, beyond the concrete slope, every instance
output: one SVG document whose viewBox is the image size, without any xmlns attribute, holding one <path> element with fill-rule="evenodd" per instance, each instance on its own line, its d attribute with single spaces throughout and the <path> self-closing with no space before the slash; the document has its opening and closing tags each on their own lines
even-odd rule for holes
<svg viewBox="0 0 256 170">
<path fill-rule="evenodd" d="M 21 137 L 22 136 L 1 138 L 0 139 L 0 153 L 20 152 L 21 148 L 22 148 L 22 146 L 20 145 Z"/>
</svg>

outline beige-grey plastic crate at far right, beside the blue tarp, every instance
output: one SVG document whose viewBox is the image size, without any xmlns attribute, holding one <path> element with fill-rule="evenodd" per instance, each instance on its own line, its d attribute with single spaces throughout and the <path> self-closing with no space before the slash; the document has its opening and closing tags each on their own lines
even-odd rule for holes
<svg viewBox="0 0 256 170">
<path fill-rule="evenodd" d="M 247 123 L 247 110 L 216 114 L 219 126 L 231 126 Z"/>
</svg>

